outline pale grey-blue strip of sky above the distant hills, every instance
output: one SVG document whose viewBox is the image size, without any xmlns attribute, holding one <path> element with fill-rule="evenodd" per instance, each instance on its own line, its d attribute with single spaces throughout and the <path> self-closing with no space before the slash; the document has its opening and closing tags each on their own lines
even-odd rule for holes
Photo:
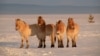
<svg viewBox="0 0 100 56">
<path fill-rule="evenodd" d="M 100 6 L 100 0 L 0 0 L 2 4 Z"/>
</svg>

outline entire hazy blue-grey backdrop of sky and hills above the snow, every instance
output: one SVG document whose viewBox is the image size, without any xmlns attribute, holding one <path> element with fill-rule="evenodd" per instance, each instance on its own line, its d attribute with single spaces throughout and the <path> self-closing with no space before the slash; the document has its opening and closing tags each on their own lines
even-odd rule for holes
<svg viewBox="0 0 100 56">
<path fill-rule="evenodd" d="M 0 14 L 100 13 L 100 0 L 1 0 Z"/>
</svg>

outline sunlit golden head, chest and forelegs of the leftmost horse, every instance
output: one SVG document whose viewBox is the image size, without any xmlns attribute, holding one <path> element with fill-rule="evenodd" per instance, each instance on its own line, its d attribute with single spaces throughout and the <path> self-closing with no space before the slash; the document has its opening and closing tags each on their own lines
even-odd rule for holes
<svg viewBox="0 0 100 56">
<path fill-rule="evenodd" d="M 31 35 L 31 29 L 29 25 L 22 21 L 21 19 L 16 19 L 16 30 L 19 31 L 20 35 L 22 36 L 21 38 L 21 45 L 20 48 L 24 47 L 24 41 L 26 41 L 26 48 L 29 48 L 29 43 L 28 43 L 28 38 Z"/>
</svg>

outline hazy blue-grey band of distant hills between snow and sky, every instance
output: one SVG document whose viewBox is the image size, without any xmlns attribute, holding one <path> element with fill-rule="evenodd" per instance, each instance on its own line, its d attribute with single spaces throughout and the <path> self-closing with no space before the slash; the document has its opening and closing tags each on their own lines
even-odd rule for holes
<svg viewBox="0 0 100 56">
<path fill-rule="evenodd" d="M 0 4 L 0 14 L 93 14 L 100 6 L 48 6 L 27 4 Z"/>
</svg>

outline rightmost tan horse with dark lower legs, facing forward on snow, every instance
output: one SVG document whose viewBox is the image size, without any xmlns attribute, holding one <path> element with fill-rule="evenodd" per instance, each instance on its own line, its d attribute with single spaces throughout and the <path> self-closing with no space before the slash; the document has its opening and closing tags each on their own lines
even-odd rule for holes
<svg viewBox="0 0 100 56">
<path fill-rule="evenodd" d="M 68 18 L 68 24 L 66 29 L 67 34 L 67 46 L 69 47 L 69 41 L 72 41 L 72 47 L 77 47 L 76 41 L 79 33 L 79 26 L 73 20 L 73 18 Z"/>
</svg>

